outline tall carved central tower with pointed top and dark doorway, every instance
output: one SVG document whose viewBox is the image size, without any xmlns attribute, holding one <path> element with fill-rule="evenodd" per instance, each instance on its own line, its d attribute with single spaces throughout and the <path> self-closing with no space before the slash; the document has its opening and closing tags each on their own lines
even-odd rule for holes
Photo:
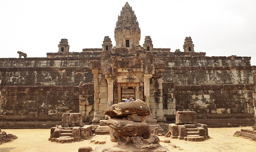
<svg viewBox="0 0 256 152">
<path fill-rule="evenodd" d="M 126 2 L 115 27 L 116 47 L 131 47 L 139 44 L 140 28 L 137 17 Z"/>
</svg>

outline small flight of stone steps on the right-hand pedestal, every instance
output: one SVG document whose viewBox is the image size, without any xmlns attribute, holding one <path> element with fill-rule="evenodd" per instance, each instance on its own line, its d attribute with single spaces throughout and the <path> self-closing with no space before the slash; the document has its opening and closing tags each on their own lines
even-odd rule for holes
<svg viewBox="0 0 256 152">
<path fill-rule="evenodd" d="M 191 142 L 202 142 L 207 139 L 207 137 L 199 136 L 199 132 L 197 131 L 197 128 L 194 124 L 184 124 L 186 127 L 187 136 L 184 137 L 185 141 L 191 141 Z"/>
</svg>

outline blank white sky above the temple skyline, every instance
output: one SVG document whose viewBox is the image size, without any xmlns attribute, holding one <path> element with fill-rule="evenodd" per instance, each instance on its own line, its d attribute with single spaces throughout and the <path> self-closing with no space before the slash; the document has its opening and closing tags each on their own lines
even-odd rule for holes
<svg viewBox="0 0 256 152">
<path fill-rule="evenodd" d="M 0 58 L 46 57 L 58 52 L 62 38 L 70 52 L 102 48 L 104 36 L 113 46 L 114 29 L 127 0 L 1 0 Z M 206 56 L 251 56 L 256 65 L 255 0 L 129 0 L 145 36 L 154 48 L 180 49 L 191 36 L 195 52 Z"/>
</svg>

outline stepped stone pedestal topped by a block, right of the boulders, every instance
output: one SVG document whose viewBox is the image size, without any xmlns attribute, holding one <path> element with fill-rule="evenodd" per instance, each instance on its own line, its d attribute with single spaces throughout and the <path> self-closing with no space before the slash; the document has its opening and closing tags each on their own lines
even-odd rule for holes
<svg viewBox="0 0 256 152">
<path fill-rule="evenodd" d="M 176 123 L 169 124 L 165 136 L 191 142 L 202 142 L 210 138 L 207 125 L 196 122 L 195 111 L 176 111 Z"/>
</svg>

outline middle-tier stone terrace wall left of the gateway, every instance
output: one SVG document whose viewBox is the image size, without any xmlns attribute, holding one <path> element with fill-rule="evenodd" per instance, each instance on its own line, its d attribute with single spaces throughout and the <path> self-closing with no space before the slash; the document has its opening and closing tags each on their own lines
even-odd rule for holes
<svg viewBox="0 0 256 152">
<path fill-rule="evenodd" d="M 73 85 L 89 83 L 93 73 L 87 67 L 10 67 L 0 68 L 2 86 Z"/>
</svg>

